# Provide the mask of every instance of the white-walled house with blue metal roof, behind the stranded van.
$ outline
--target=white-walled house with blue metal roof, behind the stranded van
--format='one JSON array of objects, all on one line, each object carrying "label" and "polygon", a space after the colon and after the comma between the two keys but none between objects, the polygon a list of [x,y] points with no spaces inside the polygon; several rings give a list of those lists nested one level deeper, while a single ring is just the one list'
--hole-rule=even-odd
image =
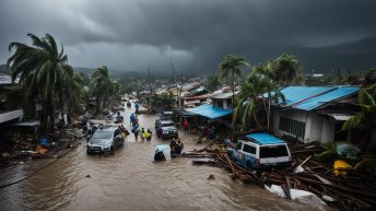
[{"label": "white-walled house with blue metal roof, behind the stranded van", "polygon": [[359,87],[289,86],[281,92],[285,104],[272,108],[275,136],[304,143],[350,141],[355,136],[341,128],[359,110]]}]

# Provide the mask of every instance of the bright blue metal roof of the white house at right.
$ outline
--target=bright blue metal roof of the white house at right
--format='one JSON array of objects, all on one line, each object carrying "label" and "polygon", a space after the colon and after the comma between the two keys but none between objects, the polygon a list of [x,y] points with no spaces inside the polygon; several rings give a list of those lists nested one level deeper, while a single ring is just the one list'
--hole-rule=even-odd
[{"label": "bright blue metal roof of the white house at right", "polygon": [[[281,90],[286,99],[284,106],[312,110],[332,101],[350,96],[359,92],[352,86],[289,86]],[[267,97],[267,94],[263,94]]]}]

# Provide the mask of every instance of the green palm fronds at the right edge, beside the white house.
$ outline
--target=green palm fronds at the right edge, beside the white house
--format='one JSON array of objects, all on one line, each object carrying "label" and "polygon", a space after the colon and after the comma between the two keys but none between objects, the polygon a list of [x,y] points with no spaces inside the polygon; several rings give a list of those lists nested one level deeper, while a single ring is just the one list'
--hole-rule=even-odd
[{"label": "green palm fronds at the right edge, beside the white house", "polygon": [[372,130],[376,128],[376,103],[375,99],[364,90],[359,92],[359,104],[361,112],[346,120],[342,130],[357,128],[365,131],[362,140],[362,148],[365,146],[369,140]]}]

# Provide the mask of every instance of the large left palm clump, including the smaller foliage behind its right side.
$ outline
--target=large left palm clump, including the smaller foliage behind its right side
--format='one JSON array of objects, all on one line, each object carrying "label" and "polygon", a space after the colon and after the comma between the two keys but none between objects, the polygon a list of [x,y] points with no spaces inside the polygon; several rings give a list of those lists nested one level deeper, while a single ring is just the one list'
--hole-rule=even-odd
[{"label": "large left palm clump, including the smaller foliage behind its right side", "polygon": [[42,38],[33,34],[27,36],[33,42],[32,46],[16,42],[9,45],[9,50],[15,51],[9,58],[8,66],[12,80],[20,77],[24,118],[34,118],[35,103],[40,102],[39,133],[47,133],[54,131],[57,108],[63,113],[78,108],[82,84],[68,65],[62,45],[59,51],[51,35],[46,34]]}]

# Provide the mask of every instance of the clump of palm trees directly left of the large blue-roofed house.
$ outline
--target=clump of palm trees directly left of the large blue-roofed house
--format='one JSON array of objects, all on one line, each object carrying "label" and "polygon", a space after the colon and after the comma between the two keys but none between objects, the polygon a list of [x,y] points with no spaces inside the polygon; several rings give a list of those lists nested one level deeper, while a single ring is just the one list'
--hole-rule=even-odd
[{"label": "clump of palm trees directly left of the large blue-roofed house", "polygon": [[[285,99],[280,89],[298,83],[301,69],[302,63],[293,55],[282,55],[270,59],[265,65],[254,66],[252,72],[240,85],[233,121],[239,120],[242,129],[247,129],[250,126],[249,119],[254,119],[256,128],[270,129],[271,103],[284,103]],[[263,95],[265,93],[267,96]],[[261,112],[262,115],[259,115],[260,97],[263,99],[265,113]],[[266,119],[266,126],[261,124],[260,119]]]}]

